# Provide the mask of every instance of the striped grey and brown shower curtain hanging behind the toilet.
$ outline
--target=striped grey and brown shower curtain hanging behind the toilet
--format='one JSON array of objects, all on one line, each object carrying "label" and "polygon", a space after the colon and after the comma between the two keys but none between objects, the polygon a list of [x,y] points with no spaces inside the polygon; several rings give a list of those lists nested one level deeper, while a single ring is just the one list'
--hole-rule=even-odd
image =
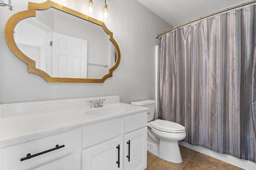
[{"label": "striped grey and brown shower curtain hanging behind the toilet", "polygon": [[158,119],[185,142],[256,162],[256,6],[160,37]]}]

